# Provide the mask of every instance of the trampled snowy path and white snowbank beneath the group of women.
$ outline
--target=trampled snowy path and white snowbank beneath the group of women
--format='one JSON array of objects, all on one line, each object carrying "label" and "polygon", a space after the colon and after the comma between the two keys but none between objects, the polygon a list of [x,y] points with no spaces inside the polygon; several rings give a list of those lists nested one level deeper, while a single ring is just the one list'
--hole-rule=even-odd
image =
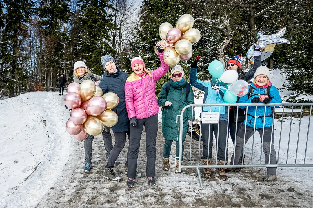
[{"label": "trampled snowy path and white snowbank beneath the group of women", "polygon": [[[6,118],[8,122],[14,122],[19,118],[20,122],[19,126],[14,126],[13,123],[0,121],[0,130],[6,142],[14,144],[10,142],[10,139],[23,133],[17,143],[27,140],[24,142],[30,148],[31,140],[33,140],[37,142],[37,151],[41,149],[40,146],[44,149],[44,157],[40,158],[41,162],[37,167],[36,163],[33,164],[32,167],[36,168],[32,174],[30,172],[33,169],[30,169],[23,176],[24,178],[21,174],[18,175],[21,179],[7,178],[6,181],[2,181],[0,178],[2,185],[9,185],[11,182],[12,188],[23,181],[13,191],[7,190],[10,194],[2,198],[2,200],[5,199],[0,202],[0,207],[313,207],[313,179],[311,177],[313,168],[278,168],[278,180],[274,182],[262,181],[262,176],[266,172],[265,168],[244,168],[237,173],[228,173],[227,181],[220,181],[217,170],[213,169],[212,178],[203,179],[204,186],[200,187],[198,178],[193,176],[194,169],[183,169],[182,174],[174,173],[175,145],[173,144],[171,168],[168,172],[164,172],[162,170],[164,139],[161,123],[156,147],[156,186],[146,186],[146,179],[141,178],[136,179],[135,188],[126,188],[124,163],[128,141],[115,165],[115,172],[122,177],[121,182],[107,181],[102,178],[107,160],[100,136],[94,139],[92,171],[83,172],[84,145],[83,142],[74,140],[65,131],[64,125],[69,118],[69,112],[64,108],[63,99],[64,97],[56,92],[36,92],[0,101],[5,109],[0,114],[1,118]],[[46,126],[39,124],[41,117],[45,120]],[[33,135],[27,133],[28,129]],[[22,130],[23,132],[19,132]],[[8,136],[5,133],[15,134]],[[187,157],[189,159],[188,141],[190,137],[187,136],[183,161],[185,164]],[[0,144],[3,145],[2,140]],[[251,157],[249,149],[248,145],[246,148],[248,161]],[[8,156],[5,151],[1,148],[0,162],[3,164],[0,168],[3,169],[3,166],[7,166],[6,163],[11,162],[17,165],[16,171],[18,168],[21,169],[22,161],[13,163],[15,160],[13,150],[8,151],[13,156]],[[282,155],[286,155],[284,151],[281,150]],[[309,151],[312,152],[311,149]],[[193,161],[198,160],[198,143],[194,141],[192,152],[194,152]],[[229,158],[231,153],[230,145]],[[254,153],[258,155],[257,151]],[[146,169],[145,154],[145,134],[143,133],[137,168],[143,176],[145,176]],[[214,155],[213,151],[213,157]],[[31,154],[30,156],[33,157]],[[31,157],[23,163],[34,162]],[[254,158],[259,159],[259,157]],[[298,158],[301,159],[299,155]],[[312,162],[312,158],[309,162]],[[204,169],[201,170],[202,173],[203,171]],[[0,173],[3,173],[3,170]],[[12,173],[9,175],[13,175]],[[24,181],[29,174],[30,176]],[[18,181],[16,185],[15,181]]]}]

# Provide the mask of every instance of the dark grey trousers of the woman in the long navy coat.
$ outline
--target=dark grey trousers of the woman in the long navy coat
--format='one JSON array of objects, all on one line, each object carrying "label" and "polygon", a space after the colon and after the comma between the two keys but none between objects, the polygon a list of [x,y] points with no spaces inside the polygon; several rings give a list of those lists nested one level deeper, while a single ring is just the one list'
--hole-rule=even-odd
[{"label": "dark grey trousers of the woman in the long navy coat", "polygon": [[[115,164],[117,157],[120,155],[121,151],[123,150],[123,148],[125,146],[126,134],[128,136],[128,141],[129,141],[131,138],[129,130],[127,132],[116,132],[116,133],[114,133],[115,144],[114,144],[114,147],[112,148],[112,150],[110,152],[108,163],[106,164],[105,167],[114,167],[114,164]],[[126,158],[128,158],[128,157],[126,157]],[[128,161],[126,159],[126,163],[125,163],[126,166],[128,165],[127,162]]]}]

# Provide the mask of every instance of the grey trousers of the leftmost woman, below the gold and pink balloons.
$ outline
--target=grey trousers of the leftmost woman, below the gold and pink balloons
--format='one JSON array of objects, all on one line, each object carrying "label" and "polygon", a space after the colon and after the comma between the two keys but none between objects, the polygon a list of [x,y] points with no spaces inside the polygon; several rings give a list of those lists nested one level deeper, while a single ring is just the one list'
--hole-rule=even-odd
[{"label": "grey trousers of the leftmost woman, below the gold and pink balloons", "polygon": [[[106,150],[106,155],[109,156],[112,149],[112,136],[109,128],[104,128],[102,132],[104,147]],[[88,135],[84,141],[85,147],[85,162],[91,162],[91,152],[92,152],[92,141],[94,136]]]}]

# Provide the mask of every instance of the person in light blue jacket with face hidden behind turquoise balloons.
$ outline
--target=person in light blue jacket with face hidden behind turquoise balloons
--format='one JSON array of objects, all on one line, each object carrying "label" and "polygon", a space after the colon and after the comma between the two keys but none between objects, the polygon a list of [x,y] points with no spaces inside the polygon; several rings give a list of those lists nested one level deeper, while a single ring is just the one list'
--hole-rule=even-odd
[{"label": "person in light blue jacket with face hidden behind turquoise balloons", "polygon": [[[194,87],[204,91],[204,98],[203,103],[212,103],[212,104],[222,104],[225,103],[223,96],[226,92],[226,89],[218,90],[215,88],[215,85],[212,82],[203,82],[197,79],[197,63],[198,60],[195,60],[190,67],[190,84]],[[203,113],[206,112],[219,112],[219,130],[218,130],[218,123],[203,123],[202,124],[202,138],[203,138],[203,153],[202,153],[202,161],[204,165],[211,165],[212,164],[212,148],[213,148],[213,132],[215,135],[215,139],[218,138],[218,165],[224,165],[228,162],[227,157],[227,115],[228,115],[228,108],[225,107],[203,107]],[[210,128],[210,135],[209,135],[209,128]],[[226,155],[226,162],[225,160]],[[227,180],[226,168],[218,168],[218,174],[221,180]],[[211,168],[205,168],[204,175],[205,178],[211,177]]]}]

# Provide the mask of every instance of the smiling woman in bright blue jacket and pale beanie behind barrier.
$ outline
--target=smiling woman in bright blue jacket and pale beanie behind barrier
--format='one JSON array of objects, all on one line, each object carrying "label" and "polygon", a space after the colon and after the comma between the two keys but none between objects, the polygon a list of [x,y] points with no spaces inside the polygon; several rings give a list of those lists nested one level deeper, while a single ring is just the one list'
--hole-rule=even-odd
[{"label": "smiling woman in bright blue jacket and pale beanie behind barrier", "polygon": [[[276,87],[272,86],[272,83],[269,81],[269,79],[269,69],[266,66],[260,66],[254,73],[253,83],[251,84],[251,86],[249,86],[254,88],[253,94],[246,94],[239,99],[238,103],[281,103],[282,100],[280,98],[279,92]],[[266,93],[265,90],[268,89],[269,93]],[[270,97],[265,98],[263,101],[260,101],[259,96],[265,94],[270,94]],[[246,108],[246,106],[239,107]],[[274,148],[274,127],[272,128],[272,107],[274,106],[257,106],[257,108],[255,108],[255,106],[248,106],[247,120],[244,121],[244,123],[247,124],[246,132],[245,125],[242,125],[239,129],[239,132],[237,133],[236,151],[234,158],[235,165],[240,164],[240,162],[242,161],[244,141],[245,143],[247,143],[248,139],[254,134],[255,131],[258,131],[260,135],[263,135],[263,152],[265,155],[265,163],[268,164],[269,162],[269,164],[277,164],[276,151]],[[246,136],[245,138],[244,135]],[[269,150],[271,151],[269,152]],[[233,169],[236,168],[227,168],[226,172],[229,172]],[[274,181],[276,179],[276,167],[267,167],[266,169],[267,175],[263,177],[263,181]]]}]

